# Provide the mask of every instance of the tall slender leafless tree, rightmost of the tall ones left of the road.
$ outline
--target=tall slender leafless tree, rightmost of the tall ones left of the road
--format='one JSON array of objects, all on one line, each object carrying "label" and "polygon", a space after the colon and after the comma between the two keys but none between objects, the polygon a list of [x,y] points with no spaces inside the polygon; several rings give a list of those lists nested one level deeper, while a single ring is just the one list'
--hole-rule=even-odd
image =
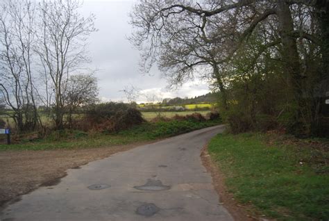
[{"label": "tall slender leafless tree, rightmost of the tall ones left of the road", "polygon": [[[78,13],[78,0],[42,1],[38,13],[39,24],[37,54],[44,67],[47,96],[53,90],[53,120],[56,129],[63,128],[64,93],[69,74],[89,62],[86,41],[94,28],[94,16],[84,18]],[[48,84],[50,83],[50,85]]]}]

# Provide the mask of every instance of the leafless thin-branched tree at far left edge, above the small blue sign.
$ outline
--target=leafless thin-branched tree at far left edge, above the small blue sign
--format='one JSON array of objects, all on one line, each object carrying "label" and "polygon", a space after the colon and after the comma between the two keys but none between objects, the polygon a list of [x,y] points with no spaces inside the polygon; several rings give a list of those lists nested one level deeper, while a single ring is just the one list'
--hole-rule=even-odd
[{"label": "leafless thin-branched tree at far left edge, above the small blue sign", "polygon": [[37,126],[33,44],[35,43],[35,5],[31,1],[6,1],[0,17],[0,92],[19,131]]}]

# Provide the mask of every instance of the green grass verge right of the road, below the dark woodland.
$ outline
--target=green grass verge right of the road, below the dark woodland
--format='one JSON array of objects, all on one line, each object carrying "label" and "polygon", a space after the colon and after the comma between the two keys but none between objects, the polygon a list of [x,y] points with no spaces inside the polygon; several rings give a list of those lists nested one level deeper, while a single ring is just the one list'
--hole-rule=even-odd
[{"label": "green grass verge right of the road, below the dark woodland", "polygon": [[311,149],[267,145],[264,135],[244,133],[219,134],[209,152],[235,199],[258,213],[278,220],[328,220],[328,170],[319,174],[319,165],[303,160]]}]

